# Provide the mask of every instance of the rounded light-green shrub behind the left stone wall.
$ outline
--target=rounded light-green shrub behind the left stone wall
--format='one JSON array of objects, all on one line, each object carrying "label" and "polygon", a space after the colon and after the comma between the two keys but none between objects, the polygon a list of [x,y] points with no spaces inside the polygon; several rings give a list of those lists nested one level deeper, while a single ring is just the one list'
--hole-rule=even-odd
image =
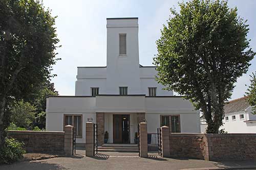
[{"label": "rounded light-green shrub behind the left stone wall", "polygon": [[23,100],[15,102],[11,109],[12,122],[18,127],[30,127],[35,119],[35,110],[34,106]]}]

